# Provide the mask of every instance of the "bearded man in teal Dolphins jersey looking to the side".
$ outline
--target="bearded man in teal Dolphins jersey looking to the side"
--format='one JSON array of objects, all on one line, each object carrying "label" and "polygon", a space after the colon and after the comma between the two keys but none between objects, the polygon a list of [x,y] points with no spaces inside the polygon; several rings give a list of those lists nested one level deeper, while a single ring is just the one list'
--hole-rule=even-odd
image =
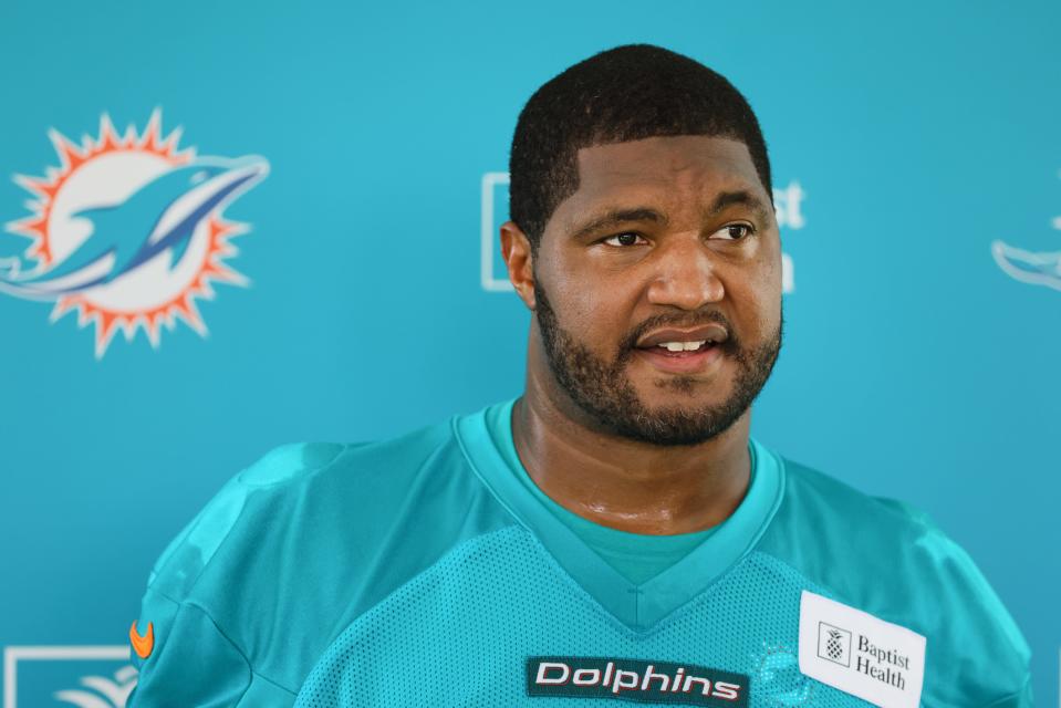
[{"label": "bearded man in teal Dolphins jersey looking to the side", "polygon": [[165,551],[147,706],[1029,706],[1029,650],[925,517],[749,438],[781,345],[755,115],[622,46],[511,153],[524,394],[280,448]]}]

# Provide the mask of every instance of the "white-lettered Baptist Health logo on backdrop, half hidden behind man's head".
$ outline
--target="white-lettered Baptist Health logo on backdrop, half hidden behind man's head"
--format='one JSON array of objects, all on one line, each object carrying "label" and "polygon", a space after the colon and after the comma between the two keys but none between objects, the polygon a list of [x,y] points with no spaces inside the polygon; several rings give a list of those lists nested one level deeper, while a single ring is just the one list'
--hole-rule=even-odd
[{"label": "white-lettered Baptist Health logo on backdrop, half hidden behind man's head", "polygon": [[[508,173],[487,173],[482,176],[480,197],[481,216],[479,231],[479,284],[487,292],[513,290],[505,262],[495,250],[495,241],[501,225],[508,220]],[[803,218],[803,199],[807,192],[798,181],[773,189],[773,205],[778,227],[798,230],[807,226]],[[795,264],[788,253],[781,254],[781,285],[786,293],[795,291]]]}]

